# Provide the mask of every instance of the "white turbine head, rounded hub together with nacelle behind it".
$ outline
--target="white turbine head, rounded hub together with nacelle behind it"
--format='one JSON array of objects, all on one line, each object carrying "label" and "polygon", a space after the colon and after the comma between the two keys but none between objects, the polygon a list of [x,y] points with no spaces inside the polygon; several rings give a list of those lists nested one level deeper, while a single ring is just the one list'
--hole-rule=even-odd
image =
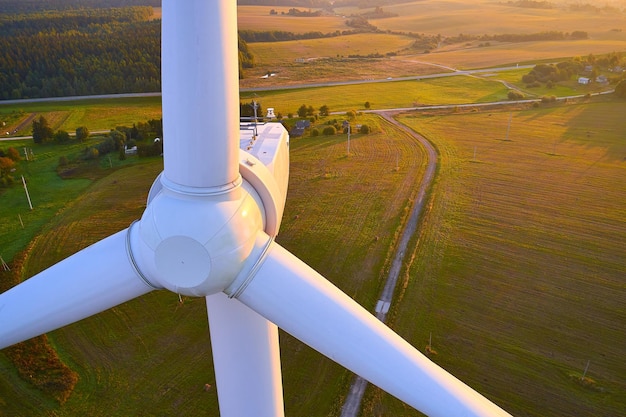
[{"label": "white turbine head, rounded hub together with nacelle behind it", "polygon": [[[231,284],[278,233],[289,136],[279,123],[260,127],[261,136],[248,137],[242,125],[246,150],[239,154],[241,175],[231,184],[205,189],[181,186],[164,174],[156,179],[141,220],[129,229],[129,255],[148,285],[195,297],[229,286],[236,292]],[[252,254],[255,246],[258,254]]]}]

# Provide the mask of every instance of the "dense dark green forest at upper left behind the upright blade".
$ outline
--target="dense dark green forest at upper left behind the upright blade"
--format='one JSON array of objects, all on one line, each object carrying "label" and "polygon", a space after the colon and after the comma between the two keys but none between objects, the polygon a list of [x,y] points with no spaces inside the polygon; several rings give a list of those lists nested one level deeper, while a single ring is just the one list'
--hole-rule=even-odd
[{"label": "dense dark green forest at upper left behind the upright blade", "polygon": [[[153,3],[0,0],[0,100],[160,91]],[[242,39],[239,65],[254,65]]]}]

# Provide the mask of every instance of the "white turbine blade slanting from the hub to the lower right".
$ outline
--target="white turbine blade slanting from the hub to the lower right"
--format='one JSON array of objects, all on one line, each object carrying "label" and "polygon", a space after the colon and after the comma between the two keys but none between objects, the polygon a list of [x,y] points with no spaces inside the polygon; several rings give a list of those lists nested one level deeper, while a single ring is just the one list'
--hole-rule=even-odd
[{"label": "white turbine blade slanting from the hub to the lower right", "polygon": [[237,298],[429,416],[508,416],[277,244]]}]

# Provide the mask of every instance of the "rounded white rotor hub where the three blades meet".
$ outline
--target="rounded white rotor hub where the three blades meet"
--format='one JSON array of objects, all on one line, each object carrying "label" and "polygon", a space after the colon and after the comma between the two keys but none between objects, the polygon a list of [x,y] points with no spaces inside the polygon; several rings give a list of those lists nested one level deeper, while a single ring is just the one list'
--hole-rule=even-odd
[{"label": "rounded white rotor hub where the three blades meet", "polygon": [[228,287],[264,227],[260,197],[247,182],[211,192],[176,189],[163,181],[131,228],[140,274],[152,286],[207,296]]}]

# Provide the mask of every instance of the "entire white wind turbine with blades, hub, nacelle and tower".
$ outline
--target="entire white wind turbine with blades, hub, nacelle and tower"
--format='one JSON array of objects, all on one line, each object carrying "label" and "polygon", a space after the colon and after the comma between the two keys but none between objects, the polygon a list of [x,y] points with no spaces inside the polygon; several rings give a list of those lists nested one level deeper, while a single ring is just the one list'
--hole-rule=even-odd
[{"label": "entire white wind turbine with blades, hub, nacelle and tower", "polygon": [[240,136],[236,2],[162,11],[164,170],[146,210],[0,294],[0,348],[167,289],[206,297],[222,416],[284,415],[277,326],[427,415],[508,416],[274,241],[289,137]]}]

